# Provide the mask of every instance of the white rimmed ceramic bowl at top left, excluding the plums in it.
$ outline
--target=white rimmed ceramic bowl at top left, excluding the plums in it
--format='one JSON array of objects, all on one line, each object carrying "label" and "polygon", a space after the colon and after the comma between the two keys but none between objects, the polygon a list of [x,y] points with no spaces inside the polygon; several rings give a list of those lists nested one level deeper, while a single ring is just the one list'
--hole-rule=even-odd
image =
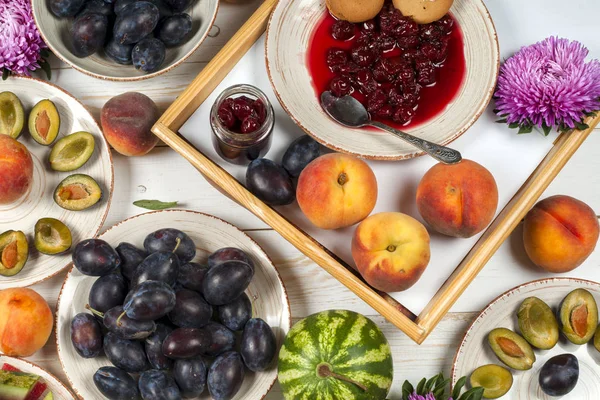
[{"label": "white rimmed ceramic bowl at top left, excluding the plums in it", "polygon": [[168,48],[161,68],[152,73],[136,70],[133,65],[120,65],[99,51],[89,57],[76,57],[71,51],[69,28],[73,18],[58,18],[48,8],[48,0],[31,0],[35,23],[48,47],[65,63],[94,78],[111,81],[139,81],[164,74],[183,63],[200,47],[213,26],[219,0],[194,0],[184,12],[192,17],[190,38],[180,46]]}]

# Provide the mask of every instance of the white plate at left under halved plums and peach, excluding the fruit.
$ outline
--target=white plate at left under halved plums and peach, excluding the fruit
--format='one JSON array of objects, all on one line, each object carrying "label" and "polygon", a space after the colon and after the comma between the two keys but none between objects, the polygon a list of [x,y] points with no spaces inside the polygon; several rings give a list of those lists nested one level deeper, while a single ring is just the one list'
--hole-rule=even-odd
[{"label": "white plate at left under halved plums and peach, excluding the fruit", "polygon": [[[69,93],[48,82],[26,77],[11,77],[2,82],[0,91],[16,94],[25,108],[25,127],[19,142],[27,146],[33,158],[33,184],[29,193],[9,205],[0,205],[0,233],[21,230],[29,242],[29,259],[23,270],[15,276],[0,276],[0,289],[30,286],[62,271],[71,260],[71,253],[48,256],[39,253],[33,244],[33,228],[40,218],[52,217],[65,223],[73,235],[73,243],[98,234],[104,223],[113,191],[113,163],[108,143],[100,126],[88,110]],[[84,166],[76,171],[57,172],[50,169],[48,156],[52,146],[42,146],[27,132],[27,117],[40,100],[50,99],[60,114],[60,138],[78,131],[94,135],[96,148]],[[53,144],[54,144],[53,143]],[[102,199],[84,211],[68,211],[59,207],[53,199],[54,189],[71,174],[86,174],[102,188]]]}]

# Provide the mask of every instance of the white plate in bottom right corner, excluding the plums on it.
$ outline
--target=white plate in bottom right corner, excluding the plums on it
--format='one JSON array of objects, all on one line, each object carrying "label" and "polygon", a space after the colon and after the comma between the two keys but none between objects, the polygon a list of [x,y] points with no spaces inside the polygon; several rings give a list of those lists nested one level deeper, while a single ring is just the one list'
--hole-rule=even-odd
[{"label": "white plate in bottom right corner, excluding the plums on it", "polygon": [[[535,296],[546,302],[554,311],[561,300],[575,289],[586,289],[600,303],[600,284],[573,278],[542,279],[518,286],[502,294],[490,303],[467,330],[456,352],[452,367],[452,384],[462,376],[482,365],[498,364],[498,360],[487,344],[487,335],[494,328],[508,328],[518,332],[517,310],[527,297]],[[600,399],[600,353],[591,345],[576,346],[560,338],[551,350],[536,350],[536,362],[529,371],[514,371],[513,386],[502,400],[551,400],[555,397],[542,392],[538,383],[539,372],[544,363],[559,354],[571,353],[579,360],[579,381],[573,391],[562,400]]]}]

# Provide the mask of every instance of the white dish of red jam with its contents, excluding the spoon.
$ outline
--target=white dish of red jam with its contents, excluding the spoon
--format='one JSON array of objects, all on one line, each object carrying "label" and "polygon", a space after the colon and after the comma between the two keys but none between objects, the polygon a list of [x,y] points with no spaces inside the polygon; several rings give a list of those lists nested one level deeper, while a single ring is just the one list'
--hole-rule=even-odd
[{"label": "white dish of red jam with its contents, excluding the spoon", "polygon": [[489,103],[499,48],[481,0],[289,0],[269,21],[266,61],[276,96],[306,133],[335,151],[400,160],[423,153],[372,128],[342,127],[323,110],[323,93],[353,96],[372,120],[447,144]]}]

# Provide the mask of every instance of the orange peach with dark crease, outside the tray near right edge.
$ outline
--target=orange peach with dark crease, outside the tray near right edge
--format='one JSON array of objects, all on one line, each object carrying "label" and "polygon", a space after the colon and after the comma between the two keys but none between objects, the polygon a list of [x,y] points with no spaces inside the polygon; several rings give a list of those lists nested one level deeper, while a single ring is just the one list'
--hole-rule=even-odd
[{"label": "orange peach with dark crease, outside the tray near right edge", "polygon": [[568,272],[580,266],[596,247],[596,213],[569,196],[538,202],[525,216],[523,242],[527,255],[548,272]]}]

